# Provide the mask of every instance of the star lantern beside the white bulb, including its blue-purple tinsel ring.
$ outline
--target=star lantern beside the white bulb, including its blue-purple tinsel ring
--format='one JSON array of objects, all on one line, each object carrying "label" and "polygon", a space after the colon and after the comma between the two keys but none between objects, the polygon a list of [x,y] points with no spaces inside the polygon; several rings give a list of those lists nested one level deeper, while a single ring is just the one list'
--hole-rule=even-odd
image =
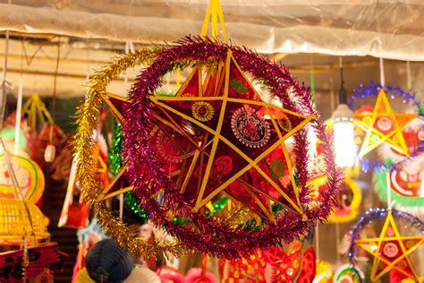
[{"label": "star lantern beside the white bulb, including its blue-purple tinsel ring", "polygon": [[[410,103],[415,107],[416,114],[394,112],[387,96],[390,99],[402,98],[403,103]],[[369,170],[376,172],[393,166],[393,162],[371,161],[367,158],[369,152],[381,146],[388,146],[403,159],[422,152],[422,149],[411,152],[411,147],[407,143],[409,139],[405,139],[406,135],[403,132],[406,124],[409,124],[416,117],[424,115],[423,107],[415,99],[415,96],[399,87],[381,86],[371,82],[369,86],[360,84],[360,89],[353,90],[349,107],[353,109],[355,102],[372,97],[377,97],[374,107],[363,106],[354,111],[356,128],[364,136],[360,142],[359,158],[361,169],[365,172]]]}]

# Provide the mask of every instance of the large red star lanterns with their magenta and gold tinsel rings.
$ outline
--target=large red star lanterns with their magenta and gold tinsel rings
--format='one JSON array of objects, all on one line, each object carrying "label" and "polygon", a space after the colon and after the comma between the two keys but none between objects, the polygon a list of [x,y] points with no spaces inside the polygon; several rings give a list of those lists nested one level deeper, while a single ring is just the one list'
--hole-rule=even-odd
[{"label": "large red star lanterns with their magenta and gold tinsel rings", "polygon": [[[131,88],[131,101],[106,91],[120,73],[138,64],[149,66]],[[191,68],[189,79],[174,96],[159,95],[163,75],[175,68]],[[265,103],[243,73],[261,81],[284,108]],[[78,110],[73,142],[81,158],[83,199],[106,234],[132,253],[182,254],[185,246],[213,256],[246,256],[307,234],[310,223],[326,219],[335,204],[340,172],[325,126],[310,107],[310,93],[266,57],[210,39],[188,38],[176,46],[124,56],[97,73],[90,86],[89,99]],[[91,159],[92,130],[98,122],[93,117],[102,102],[123,123],[125,161],[106,188],[93,177],[96,165]],[[308,141],[301,129],[312,119],[325,145],[328,190],[327,202],[311,207]],[[285,148],[292,135],[295,169]],[[122,176],[128,186],[119,184]],[[179,243],[146,244],[106,208],[107,198],[128,191],[137,197],[140,209],[149,212],[149,219]],[[227,205],[231,213],[207,214],[208,203],[222,195],[233,203]]]}]

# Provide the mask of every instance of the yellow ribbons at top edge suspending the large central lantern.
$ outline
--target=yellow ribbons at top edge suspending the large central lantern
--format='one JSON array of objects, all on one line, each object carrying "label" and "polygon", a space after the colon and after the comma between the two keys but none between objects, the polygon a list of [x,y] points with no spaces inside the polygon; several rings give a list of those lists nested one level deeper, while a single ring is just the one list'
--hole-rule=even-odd
[{"label": "yellow ribbons at top edge suspending the large central lantern", "polygon": [[228,43],[228,37],[226,35],[225,29],[225,21],[224,21],[224,13],[219,3],[219,0],[210,0],[208,11],[206,12],[205,20],[203,21],[203,25],[201,27],[200,36],[202,38],[206,38],[208,35],[209,21],[212,21],[212,38],[219,38],[219,27],[218,24],[221,24],[221,28],[223,30],[223,35],[225,39],[225,43]]}]

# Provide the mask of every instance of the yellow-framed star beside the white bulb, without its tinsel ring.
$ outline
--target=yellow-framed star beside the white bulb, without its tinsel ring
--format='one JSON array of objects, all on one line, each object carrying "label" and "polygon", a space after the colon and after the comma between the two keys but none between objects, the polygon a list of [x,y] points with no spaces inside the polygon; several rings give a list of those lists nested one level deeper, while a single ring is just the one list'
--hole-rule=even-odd
[{"label": "yellow-framed star beside the white bulb, without its tinsel ring", "polygon": [[415,117],[417,115],[395,113],[388,102],[385,90],[379,90],[373,111],[354,115],[355,124],[365,131],[365,138],[360,147],[360,158],[384,142],[394,150],[408,156],[409,151],[402,128]]}]

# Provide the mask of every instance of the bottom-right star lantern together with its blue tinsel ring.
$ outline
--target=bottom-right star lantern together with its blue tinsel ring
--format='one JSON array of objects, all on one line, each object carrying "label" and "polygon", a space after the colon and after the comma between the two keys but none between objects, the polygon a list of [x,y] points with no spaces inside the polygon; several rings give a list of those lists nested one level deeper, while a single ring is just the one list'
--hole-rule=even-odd
[{"label": "bottom-right star lantern together with its blue tinsel ring", "polygon": [[[377,219],[384,219],[379,236],[362,238],[361,231]],[[407,227],[414,228],[418,235],[401,234],[403,230],[398,227],[400,221]],[[409,233],[411,235],[411,231]],[[409,279],[423,279],[423,274],[417,273],[417,267],[420,266],[417,263],[420,264],[420,260],[414,260],[417,250],[424,244],[424,223],[420,219],[398,210],[369,210],[353,227],[350,236],[352,244],[348,255],[355,268],[358,267],[356,256],[359,250],[373,258],[370,274],[366,274],[372,281],[380,279],[391,270],[396,270]]]}]

